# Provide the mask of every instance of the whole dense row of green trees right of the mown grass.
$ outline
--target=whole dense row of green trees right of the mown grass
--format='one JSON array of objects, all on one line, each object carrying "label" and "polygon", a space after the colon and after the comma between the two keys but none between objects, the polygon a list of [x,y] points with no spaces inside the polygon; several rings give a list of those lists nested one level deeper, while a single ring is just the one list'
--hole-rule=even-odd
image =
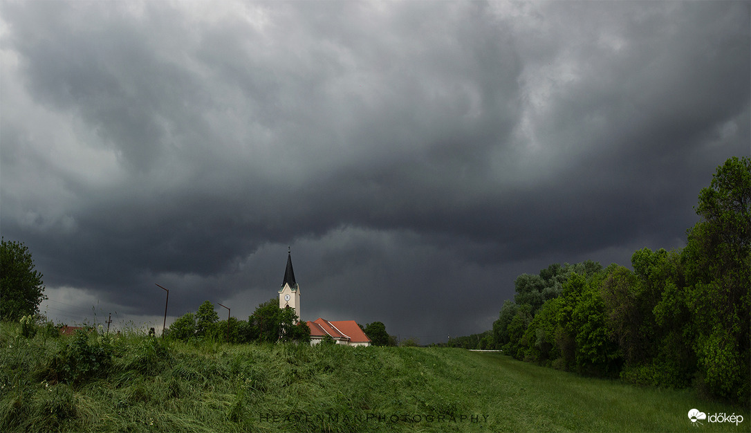
[{"label": "whole dense row of green trees right of the mown grass", "polygon": [[686,247],[632,255],[632,268],[550,265],[515,281],[493,346],[566,371],[695,386],[749,403],[751,160],[731,158],[699,194]]}]

